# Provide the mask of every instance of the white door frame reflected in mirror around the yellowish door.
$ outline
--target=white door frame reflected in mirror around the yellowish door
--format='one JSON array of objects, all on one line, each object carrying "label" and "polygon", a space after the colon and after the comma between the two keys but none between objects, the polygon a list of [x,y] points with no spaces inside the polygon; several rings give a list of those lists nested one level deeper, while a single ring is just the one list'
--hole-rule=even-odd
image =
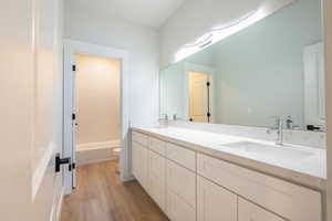
[{"label": "white door frame reflected in mirror around the yellowish door", "polygon": [[209,103],[210,103],[210,113],[211,113],[211,118],[210,118],[210,123],[209,124],[214,124],[216,120],[215,117],[215,84],[214,84],[214,78],[215,78],[215,74],[216,74],[216,70],[210,67],[210,66],[206,66],[206,65],[201,65],[201,64],[195,64],[195,63],[190,63],[190,62],[186,62],[184,64],[184,73],[185,73],[185,80],[184,80],[184,88],[185,88],[185,95],[184,95],[184,104],[185,104],[185,119],[189,120],[189,73],[190,72],[201,72],[204,74],[208,74],[209,75],[209,81],[210,81],[210,93],[209,93]]}]

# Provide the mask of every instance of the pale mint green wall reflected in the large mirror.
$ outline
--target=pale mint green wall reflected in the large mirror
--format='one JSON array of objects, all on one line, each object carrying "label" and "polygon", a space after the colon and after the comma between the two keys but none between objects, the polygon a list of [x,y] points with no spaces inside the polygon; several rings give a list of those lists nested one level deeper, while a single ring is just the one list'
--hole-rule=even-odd
[{"label": "pale mint green wall reflected in the large mirror", "polygon": [[322,40],[319,0],[299,0],[215,45],[217,122],[303,124],[303,48]]}]

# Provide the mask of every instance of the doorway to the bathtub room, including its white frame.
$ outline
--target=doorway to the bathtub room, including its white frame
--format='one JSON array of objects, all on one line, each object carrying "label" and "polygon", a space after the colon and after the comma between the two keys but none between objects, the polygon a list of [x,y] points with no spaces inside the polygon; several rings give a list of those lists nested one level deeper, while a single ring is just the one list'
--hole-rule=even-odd
[{"label": "doorway to the bathtub room, including its white frame", "polygon": [[[116,154],[121,180],[132,178],[127,57],[122,50],[65,41],[63,157],[72,161],[63,172],[65,194],[76,186],[77,164],[112,159]],[[121,151],[114,151],[118,147]]]}]

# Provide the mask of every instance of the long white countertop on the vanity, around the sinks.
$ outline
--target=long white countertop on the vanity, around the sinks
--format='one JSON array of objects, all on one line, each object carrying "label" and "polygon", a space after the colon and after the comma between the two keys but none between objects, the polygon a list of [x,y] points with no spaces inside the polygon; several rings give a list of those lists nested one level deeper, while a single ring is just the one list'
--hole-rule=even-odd
[{"label": "long white countertop on the vanity, around the sinks", "polygon": [[299,160],[271,157],[271,155],[243,151],[242,149],[227,147],[228,144],[250,141],[262,145],[274,145],[270,141],[251,139],[247,137],[222,135],[204,130],[186,129],[180,127],[136,127],[133,130],[141,131],[175,143],[196,151],[227,160],[243,167],[266,172],[295,183],[323,190],[326,180],[326,151],[319,148],[287,145],[287,147],[309,152],[309,157]]}]

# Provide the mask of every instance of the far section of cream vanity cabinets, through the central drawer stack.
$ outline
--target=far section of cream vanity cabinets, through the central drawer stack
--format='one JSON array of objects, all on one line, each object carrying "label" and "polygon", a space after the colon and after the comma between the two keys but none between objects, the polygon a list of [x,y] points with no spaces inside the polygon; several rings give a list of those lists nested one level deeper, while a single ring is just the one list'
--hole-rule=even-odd
[{"label": "far section of cream vanity cabinets, through the central drawer stack", "polygon": [[132,140],[137,181],[172,221],[196,221],[196,152],[136,131]]}]

